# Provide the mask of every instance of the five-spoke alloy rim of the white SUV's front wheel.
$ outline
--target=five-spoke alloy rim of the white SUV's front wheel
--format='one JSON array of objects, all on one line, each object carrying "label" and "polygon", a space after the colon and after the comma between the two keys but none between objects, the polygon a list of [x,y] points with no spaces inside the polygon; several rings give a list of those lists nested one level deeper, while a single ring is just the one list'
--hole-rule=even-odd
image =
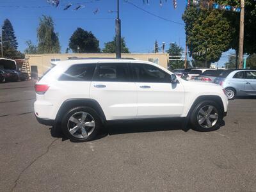
[{"label": "five-spoke alloy rim of the white SUV's front wheel", "polygon": [[218,111],[214,106],[204,106],[197,114],[197,122],[201,127],[211,128],[218,121]]}]

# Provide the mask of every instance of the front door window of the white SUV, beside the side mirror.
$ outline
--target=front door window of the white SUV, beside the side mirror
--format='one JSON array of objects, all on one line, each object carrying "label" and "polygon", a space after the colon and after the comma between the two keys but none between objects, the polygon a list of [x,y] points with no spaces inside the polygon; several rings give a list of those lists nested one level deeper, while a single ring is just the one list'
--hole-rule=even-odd
[{"label": "front door window of the white SUV, beside the side mirror", "polygon": [[136,82],[170,83],[170,75],[158,67],[148,64],[132,64],[132,74]]}]

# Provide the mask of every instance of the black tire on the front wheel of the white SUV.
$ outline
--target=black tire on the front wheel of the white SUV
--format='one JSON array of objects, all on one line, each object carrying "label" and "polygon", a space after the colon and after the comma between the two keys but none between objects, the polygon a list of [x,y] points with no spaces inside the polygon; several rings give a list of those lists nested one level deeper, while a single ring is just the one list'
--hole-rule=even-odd
[{"label": "black tire on the front wheel of the white SUV", "polygon": [[[208,111],[205,109],[209,109],[209,106],[213,106],[214,108],[208,114]],[[200,109],[203,109],[204,112],[206,111],[205,116],[200,113]],[[211,118],[210,116],[214,116],[214,118]],[[203,122],[202,120],[204,120],[204,118],[205,121]],[[212,121],[211,127],[208,127],[207,118],[209,118],[209,120]],[[222,118],[223,111],[221,110],[220,105],[218,105],[216,102],[212,100],[205,100],[196,104],[193,111],[191,111],[189,120],[190,124],[193,126],[193,129],[196,131],[215,131],[220,128],[220,122]],[[199,123],[200,120],[202,124]]]}]

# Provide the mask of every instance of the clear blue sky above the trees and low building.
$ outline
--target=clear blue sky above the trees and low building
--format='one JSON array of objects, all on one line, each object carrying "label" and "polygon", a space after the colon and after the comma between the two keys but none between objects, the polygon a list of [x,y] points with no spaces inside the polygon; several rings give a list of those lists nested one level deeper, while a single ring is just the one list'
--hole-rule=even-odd
[{"label": "clear blue sky above the trees and low building", "polygon": [[[144,4],[143,0],[120,0],[121,34],[131,52],[152,52],[156,40],[159,47],[165,42],[166,49],[173,42],[185,47],[182,20],[185,0],[177,0],[176,10],[173,0],[162,2],[160,6],[159,0],[150,0],[149,4]],[[72,3],[72,7],[64,11],[68,3]],[[79,5],[84,8],[74,11]],[[99,12],[94,14],[97,9]],[[47,0],[0,0],[0,24],[4,19],[12,22],[19,51],[26,49],[27,40],[37,44],[36,28],[42,15],[49,15],[54,20],[61,52],[67,49],[68,40],[77,28],[92,31],[102,49],[104,43],[115,36],[116,13],[109,13],[109,10],[116,11],[116,0],[60,0],[57,8],[48,4]],[[221,58],[220,65],[224,60],[227,60],[227,56]]]}]

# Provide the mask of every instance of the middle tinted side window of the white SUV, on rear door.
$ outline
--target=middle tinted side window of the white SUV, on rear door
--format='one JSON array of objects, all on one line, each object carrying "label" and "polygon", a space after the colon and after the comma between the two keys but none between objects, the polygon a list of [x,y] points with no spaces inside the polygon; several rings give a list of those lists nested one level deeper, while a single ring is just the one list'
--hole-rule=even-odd
[{"label": "middle tinted side window of the white SUV, on rear door", "polygon": [[129,68],[127,63],[99,63],[94,81],[129,81]]}]

